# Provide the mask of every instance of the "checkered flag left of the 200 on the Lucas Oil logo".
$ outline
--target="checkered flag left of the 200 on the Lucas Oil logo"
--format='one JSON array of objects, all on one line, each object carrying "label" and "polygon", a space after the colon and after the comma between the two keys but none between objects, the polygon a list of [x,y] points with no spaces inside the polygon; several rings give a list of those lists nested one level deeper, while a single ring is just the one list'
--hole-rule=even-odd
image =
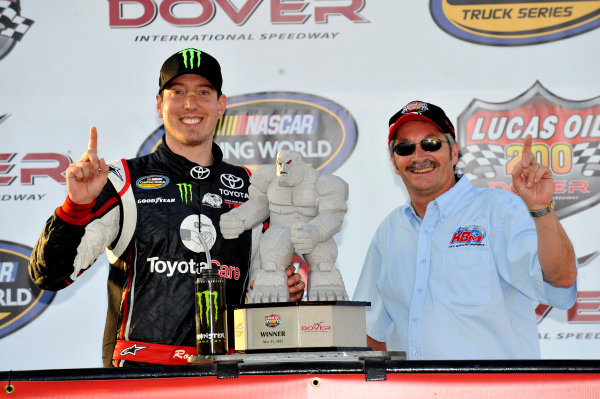
[{"label": "checkered flag left of the 200 on the Lucas Oil logo", "polygon": [[496,177],[496,171],[506,168],[506,162],[503,146],[476,144],[463,149],[463,156],[456,167],[470,180],[491,179]]}]

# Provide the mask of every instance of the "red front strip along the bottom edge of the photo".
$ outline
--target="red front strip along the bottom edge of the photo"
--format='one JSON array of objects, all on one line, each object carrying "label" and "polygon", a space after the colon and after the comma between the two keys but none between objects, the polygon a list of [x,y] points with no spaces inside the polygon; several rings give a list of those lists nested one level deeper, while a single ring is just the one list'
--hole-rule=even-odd
[{"label": "red front strip along the bottom edge of the photo", "polygon": [[[194,366],[190,366],[193,370]],[[597,398],[598,374],[240,375],[68,381],[12,381],[15,397],[32,398]],[[18,394],[18,395],[17,395]]]}]

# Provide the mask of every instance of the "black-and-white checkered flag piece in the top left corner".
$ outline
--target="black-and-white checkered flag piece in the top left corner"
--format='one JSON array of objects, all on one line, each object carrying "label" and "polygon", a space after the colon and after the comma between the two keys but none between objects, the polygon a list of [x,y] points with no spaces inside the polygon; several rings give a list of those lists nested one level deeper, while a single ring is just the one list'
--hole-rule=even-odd
[{"label": "black-and-white checkered flag piece in the top left corner", "polygon": [[0,60],[20,41],[33,20],[21,16],[19,0],[0,0]]}]

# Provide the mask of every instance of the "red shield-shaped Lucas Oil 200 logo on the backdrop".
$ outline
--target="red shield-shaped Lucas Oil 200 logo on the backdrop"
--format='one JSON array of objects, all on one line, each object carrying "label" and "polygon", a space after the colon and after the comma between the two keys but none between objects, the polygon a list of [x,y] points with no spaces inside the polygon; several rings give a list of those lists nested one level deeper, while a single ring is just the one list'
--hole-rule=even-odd
[{"label": "red shield-shaped Lucas Oil 200 logo on the backdrop", "polygon": [[536,82],[503,103],[473,100],[458,116],[459,168],[474,186],[512,189],[511,171],[523,139],[554,174],[559,217],[600,201],[600,96],[573,101]]}]

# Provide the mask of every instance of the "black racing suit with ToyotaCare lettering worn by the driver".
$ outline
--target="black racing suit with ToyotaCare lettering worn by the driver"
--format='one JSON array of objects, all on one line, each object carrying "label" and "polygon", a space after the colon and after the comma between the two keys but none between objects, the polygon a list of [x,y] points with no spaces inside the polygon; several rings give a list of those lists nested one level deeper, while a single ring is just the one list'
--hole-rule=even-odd
[{"label": "black racing suit with ToyotaCare lettering worn by the driver", "polygon": [[[140,349],[145,343],[195,347],[194,283],[206,266],[203,241],[213,268],[226,278],[227,303],[243,303],[252,233],[225,240],[219,217],[247,200],[250,172],[222,162],[216,144],[212,154],[213,165],[202,167],[173,153],[163,137],[151,154],[110,163],[109,183],[93,204],[67,197],[46,222],[29,263],[42,289],[67,287],[108,249],[105,366],[141,358],[150,352],[148,345]],[[120,352],[128,356],[113,361],[115,345],[131,342]]]}]

